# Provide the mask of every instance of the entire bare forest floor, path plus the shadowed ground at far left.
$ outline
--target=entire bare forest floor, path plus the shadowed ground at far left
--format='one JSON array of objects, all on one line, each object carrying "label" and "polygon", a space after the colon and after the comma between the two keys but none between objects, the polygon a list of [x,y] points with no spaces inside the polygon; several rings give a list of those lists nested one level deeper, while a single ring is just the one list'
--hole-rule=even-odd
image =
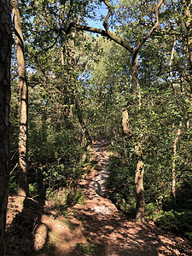
[{"label": "entire bare forest floor, path plus the shadowed ground at far left", "polygon": [[192,255],[185,238],[167,233],[154,223],[137,224],[118,211],[106,197],[108,145],[95,142],[101,171],[93,170],[81,181],[84,204],[61,215],[49,202],[30,201],[23,209],[9,197],[8,256],[75,255]]}]

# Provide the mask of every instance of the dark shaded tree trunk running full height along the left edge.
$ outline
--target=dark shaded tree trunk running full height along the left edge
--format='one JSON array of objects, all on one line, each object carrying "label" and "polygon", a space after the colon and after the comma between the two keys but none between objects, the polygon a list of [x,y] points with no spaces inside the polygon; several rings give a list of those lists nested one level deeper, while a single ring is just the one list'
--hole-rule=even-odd
[{"label": "dark shaded tree trunk running full height along the left edge", "polygon": [[10,2],[0,1],[0,256],[5,254],[9,187],[9,100],[11,57]]}]

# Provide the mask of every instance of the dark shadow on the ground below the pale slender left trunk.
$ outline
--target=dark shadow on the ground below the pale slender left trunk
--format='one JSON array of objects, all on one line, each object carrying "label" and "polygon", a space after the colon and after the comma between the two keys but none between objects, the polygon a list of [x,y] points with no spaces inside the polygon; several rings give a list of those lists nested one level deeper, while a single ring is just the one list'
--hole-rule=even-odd
[{"label": "dark shadow on the ground below the pale slender left trunk", "polygon": [[[17,211],[20,204],[12,198],[9,207],[12,207],[11,211]],[[36,242],[36,232],[42,225],[41,218],[44,214],[44,200],[33,201],[32,199],[25,199],[24,207],[22,211],[15,215],[11,224],[6,232],[6,244],[7,252],[6,256],[22,256],[22,255],[39,255],[38,251],[44,250],[49,246],[49,232],[50,229],[46,226],[44,230],[44,240],[41,247],[38,247]],[[10,218],[10,216],[8,216]],[[49,248],[53,252],[54,248]]]}]

